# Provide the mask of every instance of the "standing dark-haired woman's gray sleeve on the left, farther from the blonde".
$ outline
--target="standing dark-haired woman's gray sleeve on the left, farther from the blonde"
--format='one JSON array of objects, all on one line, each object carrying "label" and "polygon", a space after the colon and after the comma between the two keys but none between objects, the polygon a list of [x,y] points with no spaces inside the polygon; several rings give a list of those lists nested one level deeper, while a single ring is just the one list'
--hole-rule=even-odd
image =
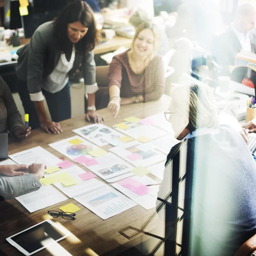
[{"label": "standing dark-haired woman's gray sleeve on the left, farther from the blonde", "polygon": [[[30,95],[41,93],[45,53],[47,50],[46,40],[43,32],[41,32],[41,30],[36,30],[29,43],[27,80]],[[43,97],[43,94],[41,96]],[[39,99],[39,101],[43,99],[44,98]]]}]

